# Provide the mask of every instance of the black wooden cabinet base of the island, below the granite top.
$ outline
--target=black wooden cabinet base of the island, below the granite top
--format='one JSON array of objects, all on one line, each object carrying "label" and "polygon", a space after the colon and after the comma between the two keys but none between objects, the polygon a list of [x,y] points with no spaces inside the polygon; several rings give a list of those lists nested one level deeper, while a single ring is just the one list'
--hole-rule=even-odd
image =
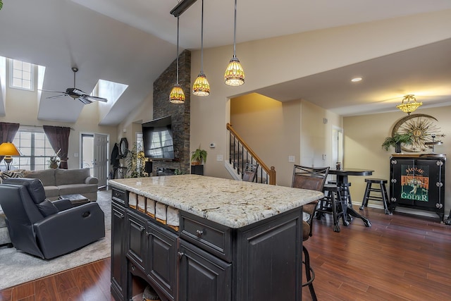
[{"label": "black wooden cabinet base of the island, below the granite top", "polygon": [[129,193],[113,190],[115,300],[132,300],[147,285],[165,301],[302,300],[301,208],[242,228],[180,211],[175,231],[125,207]]}]

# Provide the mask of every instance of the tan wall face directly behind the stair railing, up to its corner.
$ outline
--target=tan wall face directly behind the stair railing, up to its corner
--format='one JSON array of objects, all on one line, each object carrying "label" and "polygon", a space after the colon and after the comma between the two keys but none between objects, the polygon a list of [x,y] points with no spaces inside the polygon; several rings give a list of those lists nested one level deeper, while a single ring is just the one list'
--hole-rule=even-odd
[{"label": "tan wall face directly behind the stair railing, up to its corner", "polygon": [[291,185],[288,156],[299,159],[300,112],[299,101],[283,103],[257,93],[230,102],[230,123],[269,168],[276,167],[278,185]]}]

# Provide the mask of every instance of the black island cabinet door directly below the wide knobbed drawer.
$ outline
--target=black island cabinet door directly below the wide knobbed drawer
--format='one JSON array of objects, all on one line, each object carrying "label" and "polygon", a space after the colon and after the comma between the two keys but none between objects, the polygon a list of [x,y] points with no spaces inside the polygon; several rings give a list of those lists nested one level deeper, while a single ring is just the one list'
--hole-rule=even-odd
[{"label": "black island cabinet door directly below the wide knobbed drawer", "polygon": [[231,300],[231,265],[180,240],[180,301]]}]

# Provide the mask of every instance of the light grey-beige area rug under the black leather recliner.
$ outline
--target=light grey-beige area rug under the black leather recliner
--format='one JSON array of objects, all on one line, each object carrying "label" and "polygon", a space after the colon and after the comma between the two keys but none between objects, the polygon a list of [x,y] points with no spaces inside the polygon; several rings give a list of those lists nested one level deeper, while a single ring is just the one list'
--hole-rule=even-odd
[{"label": "light grey-beige area rug under the black leather recliner", "polygon": [[0,248],[0,290],[110,257],[111,190],[99,191],[97,203],[105,214],[105,238],[75,252],[44,260],[14,247]]}]

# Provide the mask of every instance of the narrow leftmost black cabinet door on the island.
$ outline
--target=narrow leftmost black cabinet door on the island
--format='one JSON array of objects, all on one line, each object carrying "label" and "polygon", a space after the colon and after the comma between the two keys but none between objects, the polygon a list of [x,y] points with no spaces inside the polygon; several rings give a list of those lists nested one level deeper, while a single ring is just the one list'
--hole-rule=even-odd
[{"label": "narrow leftmost black cabinet door on the island", "polygon": [[125,208],[111,202],[111,293],[124,300],[127,263],[125,260]]}]

